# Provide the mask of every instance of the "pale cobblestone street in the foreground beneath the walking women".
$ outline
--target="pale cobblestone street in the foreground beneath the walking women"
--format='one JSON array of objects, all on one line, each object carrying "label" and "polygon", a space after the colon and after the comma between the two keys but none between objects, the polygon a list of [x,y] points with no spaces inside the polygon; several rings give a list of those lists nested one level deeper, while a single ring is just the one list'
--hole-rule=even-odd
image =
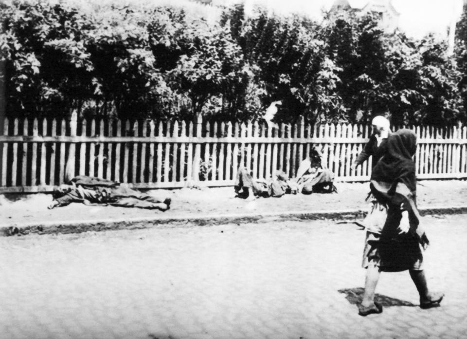
[{"label": "pale cobblestone street in the foreground beneath the walking women", "polygon": [[466,338],[467,216],[426,217],[422,310],[383,273],[360,317],[364,232],[332,221],[0,238],[0,338]]}]

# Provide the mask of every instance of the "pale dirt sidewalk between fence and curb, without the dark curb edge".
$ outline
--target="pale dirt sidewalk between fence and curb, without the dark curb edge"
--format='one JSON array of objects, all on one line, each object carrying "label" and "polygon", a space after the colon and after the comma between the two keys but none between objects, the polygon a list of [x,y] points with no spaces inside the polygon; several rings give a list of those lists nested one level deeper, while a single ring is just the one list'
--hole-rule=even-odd
[{"label": "pale dirt sidewalk between fence and curb, without the dark curb edge", "polygon": [[[368,183],[337,183],[336,186],[339,190],[337,194],[285,195],[281,198],[258,198],[252,202],[235,198],[232,187],[158,190],[158,194],[163,192],[172,199],[171,208],[165,212],[140,208],[85,206],[75,203],[49,210],[47,206],[52,202],[50,194],[8,194],[0,195],[0,225],[9,227],[54,222],[65,224],[112,219],[280,214],[292,211],[313,213],[368,208],[365,202],[369,191]],[[420,181],[417,194],[420,208],[467,207],[467,181],[464,180]]]}]

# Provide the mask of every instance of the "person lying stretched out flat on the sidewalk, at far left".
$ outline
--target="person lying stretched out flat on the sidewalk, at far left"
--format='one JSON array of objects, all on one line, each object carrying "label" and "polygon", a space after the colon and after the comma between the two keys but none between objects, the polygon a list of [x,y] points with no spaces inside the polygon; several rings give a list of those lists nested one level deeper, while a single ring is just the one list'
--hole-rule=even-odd
[{"label": "person lying stretched out flat on the sidewalk, at far left", "polygon": [[53,193],[54,200],[48,206],[67,206],[73,202],[85,205],[110,205],[116,207],[139,207],[147,209],[170,208],[171,199],[149,195],[120,185],[107,179],[80,175],[74,177],[69,185],[62,185]]}]

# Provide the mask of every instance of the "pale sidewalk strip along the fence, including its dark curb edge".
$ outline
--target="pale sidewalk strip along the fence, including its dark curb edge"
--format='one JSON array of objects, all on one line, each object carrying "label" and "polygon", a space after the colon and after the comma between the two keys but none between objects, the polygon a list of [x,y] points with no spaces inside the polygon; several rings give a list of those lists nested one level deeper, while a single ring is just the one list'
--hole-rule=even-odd
[{"label": "pale sidewalk strip along the fence, including its dark curb edge", "polygon": [[[272,216],[282,219],[342,217],[354,218],[366,212],[368,183],[337,183],[338,194],[297,194],[281,198],[260,198],[254,202],[234,198],[232,187],[204,189],[156,190],[153,193],[172,199],[170,210],[161,212],[141,208],[84,206],[71,204],[52,210],[47,206],[51,195],[0,195],[0,234],[22,229],[29,232],[79,232],[83,230],[148,227],[161,223],[225,224],[229,221],[269,221]],[[424,180],[417,187],[418,206],[422,212],[442,213],[467,211],[467,181]],[[341,213],[336,213],[340,211]],[[320,214],[321,213],[321,214]]]}]

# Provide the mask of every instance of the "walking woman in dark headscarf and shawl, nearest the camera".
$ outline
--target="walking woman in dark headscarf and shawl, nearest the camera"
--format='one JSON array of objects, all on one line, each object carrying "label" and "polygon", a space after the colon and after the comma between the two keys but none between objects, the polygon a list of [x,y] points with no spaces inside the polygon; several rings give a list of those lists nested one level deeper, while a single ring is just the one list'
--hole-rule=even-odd
[{"label": "walking woman in dark headscarf and shawl, nearest the camera", "polygon": [[365,218],[366,240],[363,264],[366,268],[365,291],[359,315],[381,313],[374,301],[381,271],[409,270],[420,295],[420,307],[439,306],[442,293],[431,293],[423,271],[423,250],[429,241],[416,207],[415,163],[416,135],[406,129],[388,136],[384,155],[374,166],[370,188],[376,198],[372,211]]}]

